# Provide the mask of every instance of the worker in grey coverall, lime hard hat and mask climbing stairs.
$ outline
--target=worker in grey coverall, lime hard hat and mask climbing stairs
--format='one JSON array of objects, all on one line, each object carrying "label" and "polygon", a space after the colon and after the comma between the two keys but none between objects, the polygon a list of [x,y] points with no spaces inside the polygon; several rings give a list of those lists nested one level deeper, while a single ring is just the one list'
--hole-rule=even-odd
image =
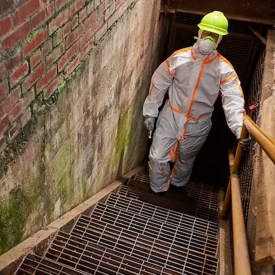
[{"label": "worker in grey coverall, lime hard hat and mask climbing stairs", "polygon": [[[228,34],[228,20],[222,12],[214,11],[198,26],[195,45],[175,52],[156,69],[144,102],[148,130],[153,129],[158,116],[148,166],[151,191],[159,195],[168,188],[179,191],[188,182],[195,157],[210,131],[219,92],[227,124],[238,140],[241,136],[245,113],[241,84],[231,63],[216,50]],[[166,91],[168,100],[159,113]],[[241,141],[244,148],[249,144],[250,137]],[[172,171],[169,162],[175,162]]]}]

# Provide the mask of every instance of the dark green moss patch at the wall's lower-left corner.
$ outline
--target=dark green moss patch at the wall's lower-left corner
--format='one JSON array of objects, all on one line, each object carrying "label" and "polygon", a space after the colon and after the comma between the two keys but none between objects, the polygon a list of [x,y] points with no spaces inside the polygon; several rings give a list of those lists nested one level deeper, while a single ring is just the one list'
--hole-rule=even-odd
[{"label": "dark green moss patch at the wall's lower-left corner", "polygon": [[0,205],[0,254],[22,241],[31,211],[32,198],[21,187],[13,188],[8,201]]}]

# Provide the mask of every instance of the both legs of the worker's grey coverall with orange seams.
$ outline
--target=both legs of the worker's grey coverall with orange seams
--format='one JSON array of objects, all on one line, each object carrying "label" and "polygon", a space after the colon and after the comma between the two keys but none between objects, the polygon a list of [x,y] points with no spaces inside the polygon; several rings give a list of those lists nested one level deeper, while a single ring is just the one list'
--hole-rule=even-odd
[{"label": "both legs of the worker's grey coverall with orange seams", "polygon": [[[211,129],[211,121],[187,123],[184,139],[179,137],[176,128],[176,124],[165,117],[160,116],[157,120],[148,162],[154,192],[165,192],[170,184],[184,186],[188,182],[195,157]],[[175,166],[170,175],[169,162],[174,160]]]}]

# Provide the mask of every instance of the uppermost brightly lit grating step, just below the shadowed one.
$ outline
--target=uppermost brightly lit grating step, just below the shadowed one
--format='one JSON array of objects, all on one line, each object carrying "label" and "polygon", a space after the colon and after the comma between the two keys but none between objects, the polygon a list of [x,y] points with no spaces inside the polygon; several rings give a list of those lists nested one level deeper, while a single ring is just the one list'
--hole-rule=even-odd
[{"label": "uppermost brightly lit grating step, just below the shadowed one", "polygon": [[106,204],[133,214],[169,223],[176,227],[190,228],[190,230],[206,234],[206,236],[217,237],[218,224],[206,219],[199,219],[117,194],[111,194]]}]

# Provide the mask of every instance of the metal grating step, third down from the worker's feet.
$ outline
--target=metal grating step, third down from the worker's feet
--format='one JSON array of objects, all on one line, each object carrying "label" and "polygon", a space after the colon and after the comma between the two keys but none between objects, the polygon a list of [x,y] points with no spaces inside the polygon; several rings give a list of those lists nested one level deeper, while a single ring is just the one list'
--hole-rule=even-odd
[{"label": "metal grating step, third down from the worker's feet", "polygon": [[163,223],[162,221],[119,210],[103,203],[98,203],[91,217],[119,226],[120,228],[125,228],[126,230],[132,230],[145,236],[151,236],[158,240],[179,245],[182,248],[195,250],[211,256],[216,256],[217,254],[217,238],[193,231],[188,226],[184,228],[177,227],[169,223]]}]

